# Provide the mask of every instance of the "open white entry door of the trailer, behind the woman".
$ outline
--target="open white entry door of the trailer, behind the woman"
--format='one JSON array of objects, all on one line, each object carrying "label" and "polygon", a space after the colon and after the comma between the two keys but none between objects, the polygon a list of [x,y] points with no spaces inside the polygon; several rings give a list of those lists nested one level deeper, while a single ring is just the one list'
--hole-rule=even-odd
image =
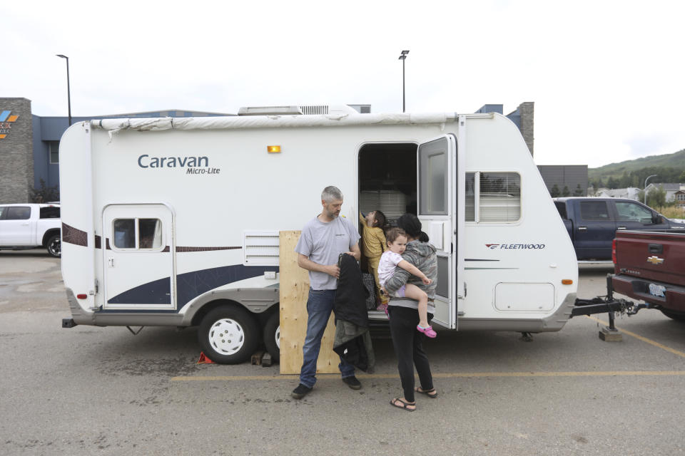
[{"label": "open white entry door of the trailer, behind the woman", "polygon": [[437,249],[434,321],[457,327],[457,140],[442,135],[418,147],[418,216]]}]

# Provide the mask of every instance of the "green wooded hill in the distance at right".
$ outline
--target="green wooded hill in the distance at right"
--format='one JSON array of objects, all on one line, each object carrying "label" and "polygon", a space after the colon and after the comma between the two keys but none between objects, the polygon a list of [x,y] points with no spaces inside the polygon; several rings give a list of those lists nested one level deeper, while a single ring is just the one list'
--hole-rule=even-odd
[{"label": "green wooded hill in the distance at right", "polygon": [[[685,182],[685,149],[587,170],[591,185],[601,180],[603,186],[609,188],[642,187],[645,178],[653,174],[657,176],[652,177],[650,182]],[[608,185],[610,181],[613,185]]]}]

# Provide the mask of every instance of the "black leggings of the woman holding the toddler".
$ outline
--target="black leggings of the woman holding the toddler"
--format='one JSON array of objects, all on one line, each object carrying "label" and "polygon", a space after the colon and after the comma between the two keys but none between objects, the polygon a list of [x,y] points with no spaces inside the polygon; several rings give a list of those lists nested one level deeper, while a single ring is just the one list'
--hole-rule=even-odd
[{"label": "black leggings of the woman holding the toddler", "polygon": [[[426,353],[423,351],[423,339],[426,337],[416,330],[419,324],[419,311],[408,307],[389,306],[390,336],[392,346],[397,356],[397,370],[400,371],[402,389],[405,390],[405,399],[414,402],[414,366],[419,374],[421,388],[430,390],[433,388],[433,377],[430,373],[430,364]],[[428,321],[432,314],[428,314]]]}]

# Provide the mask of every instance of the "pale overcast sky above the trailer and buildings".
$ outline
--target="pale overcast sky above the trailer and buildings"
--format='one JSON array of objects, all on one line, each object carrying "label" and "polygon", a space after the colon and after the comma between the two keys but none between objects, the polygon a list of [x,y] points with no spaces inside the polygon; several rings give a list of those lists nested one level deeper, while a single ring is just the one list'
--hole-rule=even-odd
[{"label": "pale overcast sky above the trailer and buildings", "polygon": [[365,103],[535,103],[539,165],[685,148],[685,2],[8,1],[0,97],[73,116]]}]

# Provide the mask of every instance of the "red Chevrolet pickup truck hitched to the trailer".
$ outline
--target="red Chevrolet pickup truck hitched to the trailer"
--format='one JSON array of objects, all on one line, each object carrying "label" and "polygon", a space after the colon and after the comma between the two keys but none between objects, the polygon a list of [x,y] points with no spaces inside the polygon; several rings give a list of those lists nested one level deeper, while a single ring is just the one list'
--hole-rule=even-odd
[{"label": "red Chevrolet pickup truck hitched to the trailer", "polygon": [[614,291],[685,321],[685,232],[617,232],[612,257]]}]

